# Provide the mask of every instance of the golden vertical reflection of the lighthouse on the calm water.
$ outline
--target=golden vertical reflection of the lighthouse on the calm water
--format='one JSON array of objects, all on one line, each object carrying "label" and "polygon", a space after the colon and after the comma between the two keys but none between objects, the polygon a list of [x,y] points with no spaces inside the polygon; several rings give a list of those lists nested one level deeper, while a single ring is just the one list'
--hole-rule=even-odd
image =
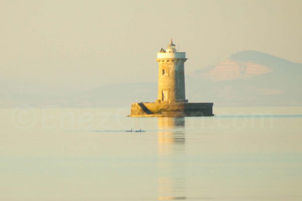
[{"label": "golden vertical reflection of the lighthouse on the calm water", "polygon": [[158,199],[186,199],[185,118],[158,118],[158,128]]}]

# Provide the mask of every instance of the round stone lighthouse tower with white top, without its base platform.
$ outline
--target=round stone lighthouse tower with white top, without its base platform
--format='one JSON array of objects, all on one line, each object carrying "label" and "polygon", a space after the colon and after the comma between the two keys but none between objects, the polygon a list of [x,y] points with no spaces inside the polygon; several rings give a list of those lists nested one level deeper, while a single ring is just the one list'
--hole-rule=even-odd
[{"label": "round stone lighthouse tower with white top, without its base platform", "polygon": [[185,52],[177,52],[171,39],[167,50],[157,53],[159,63],[158,99],[156,103],[187,103],[185,91]]}]

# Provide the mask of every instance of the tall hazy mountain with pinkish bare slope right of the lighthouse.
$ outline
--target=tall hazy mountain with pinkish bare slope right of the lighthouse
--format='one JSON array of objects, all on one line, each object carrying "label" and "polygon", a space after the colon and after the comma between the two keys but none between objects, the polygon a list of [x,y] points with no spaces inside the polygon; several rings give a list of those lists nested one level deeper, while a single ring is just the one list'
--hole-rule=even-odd
[{"label": "tall hazy mountain with pinkish bare slope right of the lighthouse", "polygon": [[191,101],[226,106],[302,105],[302,64],[257,51],[231,55],[218,65],[189,73]]}]

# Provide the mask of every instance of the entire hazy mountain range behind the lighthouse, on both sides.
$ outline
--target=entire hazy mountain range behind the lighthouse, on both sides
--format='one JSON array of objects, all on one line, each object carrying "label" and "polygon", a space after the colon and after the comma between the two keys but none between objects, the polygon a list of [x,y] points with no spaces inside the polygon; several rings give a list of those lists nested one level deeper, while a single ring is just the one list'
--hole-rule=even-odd
[{"label": "entire hazy mountain range behind the lighthouse, on both sides", "polygon": [[[301,106],[302,64],[257,51],[238,52],[186,73],[186,97],[214,106]],[[156,82],[120,83],[68,95],[5,94],[0,106],[129,107],[156,98]]]}]

